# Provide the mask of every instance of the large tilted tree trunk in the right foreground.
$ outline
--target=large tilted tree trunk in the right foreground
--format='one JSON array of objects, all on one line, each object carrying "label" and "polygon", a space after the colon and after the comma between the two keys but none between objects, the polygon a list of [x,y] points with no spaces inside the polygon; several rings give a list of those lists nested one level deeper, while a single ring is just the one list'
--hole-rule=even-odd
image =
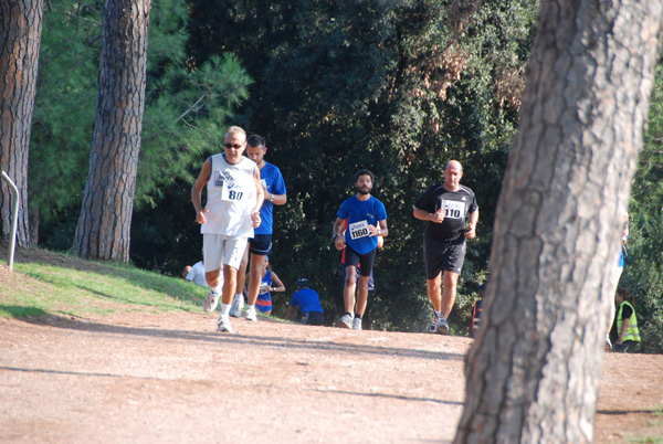
[{"label": "large tilted tree trunk in the right foreground", "polygon": [[587,443],[663,0],[544,0],[455,443]]}]

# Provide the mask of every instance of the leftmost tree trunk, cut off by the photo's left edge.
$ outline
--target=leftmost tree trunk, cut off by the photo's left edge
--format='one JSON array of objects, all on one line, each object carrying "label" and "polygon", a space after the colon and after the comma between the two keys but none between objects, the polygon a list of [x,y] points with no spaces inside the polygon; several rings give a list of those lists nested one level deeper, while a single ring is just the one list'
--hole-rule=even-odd
[{"label": "leftmost tree trunk, cut off by the photo's left edge", "polygon": [[[0,0],[0,169],[19,189],[18,246],[32,245],[28,155],[43,9],[43,0]],[[0,241],[8,243],[14,198],[2,180],[0,190]]]}]

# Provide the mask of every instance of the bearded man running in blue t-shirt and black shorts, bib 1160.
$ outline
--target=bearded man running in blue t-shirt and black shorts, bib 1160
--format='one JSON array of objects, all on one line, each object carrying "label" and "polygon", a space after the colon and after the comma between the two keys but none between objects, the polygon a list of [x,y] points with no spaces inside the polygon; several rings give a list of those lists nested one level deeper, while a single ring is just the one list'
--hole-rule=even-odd
[{"label": "bearded man running in blue t-shirt and black shorts, bib 1160", "polygon": [[[336,323],[341,328],[361,329],[361,317],[368,300],[368,279],[376,261],[378,236],[386,237],[389,234],[385,205],[370,195],[373,179],[369,170],[360,170],[355,175],[357,194],[343,202],[334,223],[335,246],[339,251],[346,249],[346,279],[343,292],[346,313]],[[359,265],[359,292],[355,299]]]}]

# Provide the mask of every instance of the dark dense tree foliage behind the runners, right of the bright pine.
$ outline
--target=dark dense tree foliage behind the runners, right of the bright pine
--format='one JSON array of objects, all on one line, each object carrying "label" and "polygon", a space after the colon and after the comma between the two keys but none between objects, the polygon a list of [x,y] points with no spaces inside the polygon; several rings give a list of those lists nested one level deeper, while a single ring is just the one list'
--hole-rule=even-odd
[{"label": "dark dense tree foliage behind the runners, right of the bright pine", "polygon": [[411,208],[454,158],[482,209],[452,318],[459,330],[485,278],[538,4],[465,3],[191,2],[192,63],[233,51],[255,80],[235,121],[266,137],[267,160],[286,179],[288,204],[276,210],[272,256],[286,286],[306,275],[335,306],[341,287],[332,224],[354,193],[354,173],[376,173],[373,194],[387,207],[390,235],[369,298],[373,328],[425,325],[425,224]]}]

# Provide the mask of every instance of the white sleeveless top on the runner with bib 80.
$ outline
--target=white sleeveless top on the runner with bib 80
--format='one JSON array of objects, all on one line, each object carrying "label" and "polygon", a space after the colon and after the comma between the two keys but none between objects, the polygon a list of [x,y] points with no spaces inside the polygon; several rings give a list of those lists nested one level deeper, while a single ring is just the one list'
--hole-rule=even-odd
[{"label": "white sleeveless top on the runner with bib 80", "polygon": [[257,199],[255,168],[252,160],[242,157],[235,165],[225,161],[224,154],[210,157],[211,173],[207,183],[206,222],[201,233],[223,234],[231,237],[253,237],[251,210]]}]

